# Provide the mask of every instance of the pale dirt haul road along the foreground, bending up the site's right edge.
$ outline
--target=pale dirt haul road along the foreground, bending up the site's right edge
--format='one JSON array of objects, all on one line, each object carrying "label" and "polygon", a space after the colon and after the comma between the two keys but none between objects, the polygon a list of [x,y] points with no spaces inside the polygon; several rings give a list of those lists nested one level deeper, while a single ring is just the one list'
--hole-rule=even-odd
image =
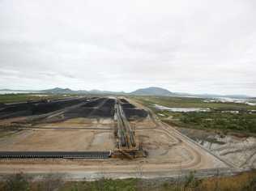
[{"label": "pale dirt haul road along the foreground, bending up the site's right edge", "polygon": [[[129,100],[138,108],[149,108]],[[31,173],[41,176],[45,173],[63,173],[68,180],[95,180],[101,177],[127,178],[143,177],[156,178],[166,176],[181,176],[195,171],[196,176],[230,175],[241,172],[218,156],[211,154],[203,146],[179,133],[172,126],[157,120],[151,112],[150,120],[155,127],[154,134],[169,138],[169,158],[161,160],[152,157],[143,159],[0,159],[0,175],[14,172]],[[147,126],[145,126],[147,128]],[[145,134],[148,129],[135,129],[135,134]],[[160,137],[159,139],[161,139]],[[177,158],[177,155],[184,156]],[[160,154],[162,155],[162,154]]]}]

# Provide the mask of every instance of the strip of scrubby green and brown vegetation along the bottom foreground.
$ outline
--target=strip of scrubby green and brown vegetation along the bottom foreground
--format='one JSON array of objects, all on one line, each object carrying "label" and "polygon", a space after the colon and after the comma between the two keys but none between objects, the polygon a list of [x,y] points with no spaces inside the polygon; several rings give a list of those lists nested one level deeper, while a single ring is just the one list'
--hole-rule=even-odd
[{"label": "strip of scrubby green and brown vegetation along the bottom foreground", "polygon": [[256,189],[256,172],[244,172],[237,176],[198,179],[194,172],[175,180],[100,179],[96,181],[65,182],[62,176],[50,174],[43,181],[32,181],[23,173],[8,176],[0,182],[4,191],[253,191]]}]

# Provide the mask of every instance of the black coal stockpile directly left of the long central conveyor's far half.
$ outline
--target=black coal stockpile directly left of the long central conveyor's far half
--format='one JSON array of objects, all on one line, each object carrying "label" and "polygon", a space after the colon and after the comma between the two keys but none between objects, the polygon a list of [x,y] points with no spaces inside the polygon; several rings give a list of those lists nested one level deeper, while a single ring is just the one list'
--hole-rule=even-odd
[{"label": "black coal stockpile directly left of the long central conveyor's far half", "polygon": [[74,117],[113,117],[116,100],[99,98],[65,112],[65,118]]}]

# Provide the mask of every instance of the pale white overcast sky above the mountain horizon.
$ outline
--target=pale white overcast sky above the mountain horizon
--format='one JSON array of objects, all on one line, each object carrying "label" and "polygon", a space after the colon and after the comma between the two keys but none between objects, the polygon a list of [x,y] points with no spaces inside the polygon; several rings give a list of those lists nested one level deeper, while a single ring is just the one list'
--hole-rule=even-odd
[{"label": "pale white overcast sky above the mountain horizon", "polygon": [[0,0],[0,88],[256,96],[255,0]]}]

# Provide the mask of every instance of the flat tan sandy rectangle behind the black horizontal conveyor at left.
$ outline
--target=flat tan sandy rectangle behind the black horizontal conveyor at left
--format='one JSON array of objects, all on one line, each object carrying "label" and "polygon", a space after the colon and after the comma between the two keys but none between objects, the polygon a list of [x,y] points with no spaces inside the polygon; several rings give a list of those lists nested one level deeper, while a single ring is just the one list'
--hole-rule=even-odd
[{"label": "flat tan sandy rectangle behind the black horizontal conveyor at left", "polygon": [[112,132],[84,129],[24,129],[0,138],[0,151],[109,151],[113,148]]}]

